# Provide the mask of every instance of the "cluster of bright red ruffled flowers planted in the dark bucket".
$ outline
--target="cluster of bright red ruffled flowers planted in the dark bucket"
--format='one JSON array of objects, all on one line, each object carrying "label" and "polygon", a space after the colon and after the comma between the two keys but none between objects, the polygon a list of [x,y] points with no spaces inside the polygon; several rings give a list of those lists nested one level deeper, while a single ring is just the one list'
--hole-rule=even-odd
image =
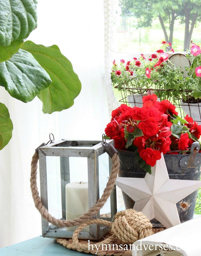
[{"label": "cluster of bright red ruffled flowers planted in the dark bucket", "polygon": [[122,104],[113,110],[105,134],[114,139],[115,148],[134,147],[147,165],[154,166],[161,153],[188,150],[195,137],[199,139],[201,135],[201,126],[191,117],[186,116],[182,126],[173,125],[177,115],[168,100],[157,101],[156,95],[147,95],[143,97],[142,108]]}]

